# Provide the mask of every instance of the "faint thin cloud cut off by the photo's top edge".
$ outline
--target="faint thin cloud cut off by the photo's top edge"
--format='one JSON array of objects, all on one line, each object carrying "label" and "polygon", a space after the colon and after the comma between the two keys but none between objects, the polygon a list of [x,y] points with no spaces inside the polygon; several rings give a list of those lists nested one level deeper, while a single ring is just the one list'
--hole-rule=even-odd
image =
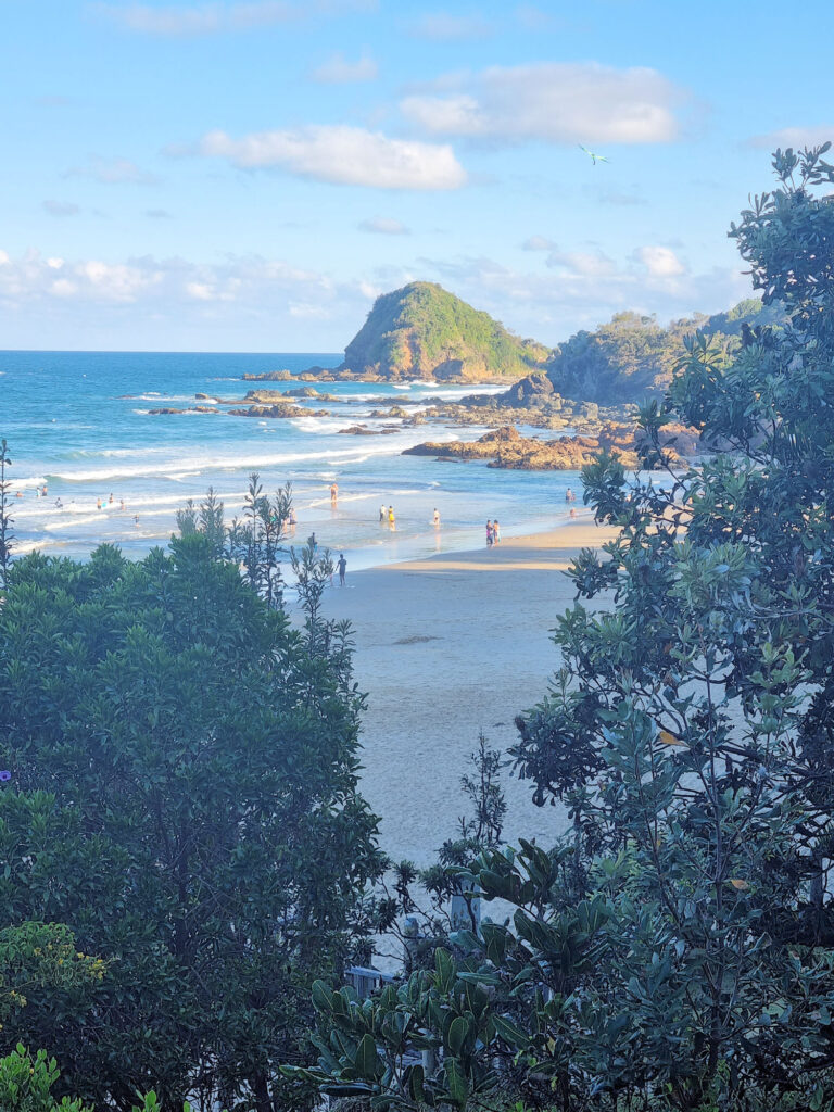
[{"label": "faint thin cloud cut off by the photo's top edge", "polygon": [[167,4],[93,3],[90,10],[126,31],[161,37],[248,31],[274,23],[288,23],[316,13],[370,11],[376,0],[249,0],[239,3]]}]

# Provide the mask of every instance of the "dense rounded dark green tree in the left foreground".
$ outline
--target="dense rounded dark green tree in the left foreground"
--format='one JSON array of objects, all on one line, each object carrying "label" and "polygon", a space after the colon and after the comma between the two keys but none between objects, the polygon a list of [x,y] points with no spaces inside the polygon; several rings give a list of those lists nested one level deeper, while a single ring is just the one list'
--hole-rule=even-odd
[{"label": "dense rounded dark green tree in the left foreground", "polygon": [[12,566],[3,921],[68,924],[108,975],[91,1011],[36,985],[8,1046],[48,1046],[97,1108],[151,1088],[166,1108],[304,1100],[277,1063],[302,1053],[309,985],[361,942],[379,871],[348,666],[199,530],[140,563],[101,546]]}]

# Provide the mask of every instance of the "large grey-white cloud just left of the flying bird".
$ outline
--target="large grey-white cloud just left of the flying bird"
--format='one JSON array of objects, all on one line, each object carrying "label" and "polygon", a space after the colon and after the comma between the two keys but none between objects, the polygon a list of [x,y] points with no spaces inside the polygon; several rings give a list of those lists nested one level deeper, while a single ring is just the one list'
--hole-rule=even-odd
[{"label": "large grey-white cloud just left of the flying bird", "polygon": [[404,98],[406,119],[431,135],[496,142],[671,142],[685,99],[657,70],[596,62],[494,66],[438,88],[445,91]]}]

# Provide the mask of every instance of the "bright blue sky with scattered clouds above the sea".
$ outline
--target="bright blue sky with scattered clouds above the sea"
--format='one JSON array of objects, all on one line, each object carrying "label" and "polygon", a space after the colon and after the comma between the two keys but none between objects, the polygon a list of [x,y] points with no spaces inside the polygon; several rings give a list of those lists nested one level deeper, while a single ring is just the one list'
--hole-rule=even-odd
[{"label": "bright blue sky with scattered clouds above the sea", "polygon": [[834,139],[828,0],[0,0],[0,27],[6,349],[339,351],[417,279],[550,345],[718,311],[770,152]]}]

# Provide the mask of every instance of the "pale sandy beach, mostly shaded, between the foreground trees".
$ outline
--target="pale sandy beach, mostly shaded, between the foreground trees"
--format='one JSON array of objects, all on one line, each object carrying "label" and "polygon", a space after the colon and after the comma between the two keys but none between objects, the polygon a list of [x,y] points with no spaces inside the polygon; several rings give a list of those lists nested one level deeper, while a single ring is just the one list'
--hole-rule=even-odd
[{"label": "pale sandy beach, mostly shaded, between the foreground trees", "polygon": [[[514,717],[546,693],[558,664],[550,631],[572,605],[560,574],[584,547],[612,536],[587,517],[487,549],[353,573],[326,596],[349,618],[363,719],[363,793],[381,817],[395,860],[428,864],[466,810],[459,780],[483,731],[506,749]],[[528,783],[504,774],[505,836],[547,843],[560,807],[536,807]]]}]

